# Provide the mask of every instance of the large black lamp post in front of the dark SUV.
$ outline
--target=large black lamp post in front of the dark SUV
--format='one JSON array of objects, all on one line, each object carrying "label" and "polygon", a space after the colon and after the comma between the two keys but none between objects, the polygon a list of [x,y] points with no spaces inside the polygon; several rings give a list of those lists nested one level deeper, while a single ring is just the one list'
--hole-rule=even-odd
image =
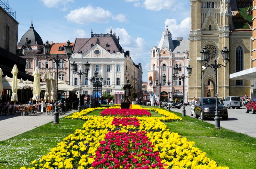
[{"label": "large black lamp post in front of the dark SUV", "polygon": [[[217,64],[217,60],[215,59],[214,64],[207,65],[209,62],[209,51],[206,49],[206,47],[203,48],[203,51],[201,53],[201,60],[203,65],[205,67],[210,67],[214,69],[214,75],[215,75],[215,97],[216,97],[216,107],[215,107],[215,128],[221,128],[220,121],[219,121],[219,116],[218,116],[218,92],[217,92],[217,71],[218,68],[221,67],[226,67],[227,63],[229,62],[229,50],[227,49],[226,46],[224,46],[224,50],[221,50],[222,54],[222,61],[224,62],[225,65],[222,64]],[[207,65],[207,66],[206,66]],[[203,102],[203,98],[202,98]],[[203,114],[203,110],[202,110]]]}]

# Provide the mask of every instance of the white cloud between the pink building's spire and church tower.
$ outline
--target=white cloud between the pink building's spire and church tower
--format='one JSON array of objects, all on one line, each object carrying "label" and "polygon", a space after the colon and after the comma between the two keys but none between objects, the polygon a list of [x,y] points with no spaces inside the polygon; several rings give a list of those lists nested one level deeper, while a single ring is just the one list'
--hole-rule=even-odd
[{"label": "white cloud between the pink building's spire and church tower", "polygon": [[166,19],[165,25],[168,25],[168,29],[174,37],[184,37],[186,39],[190,33],[190,21],[189,17],[181,21],[180,24],[177,24],[176,19]]}]

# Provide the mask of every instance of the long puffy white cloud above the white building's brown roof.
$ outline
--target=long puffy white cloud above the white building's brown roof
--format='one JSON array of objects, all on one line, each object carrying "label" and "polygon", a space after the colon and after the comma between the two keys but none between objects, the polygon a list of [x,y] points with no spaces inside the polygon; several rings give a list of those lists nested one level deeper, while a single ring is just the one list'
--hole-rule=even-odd
[{"label": "long puffy white cloud above the white building's brown roof", "polygon": [[95,8],[91,5],[74,9],[65,17],[68,21],[78,24],[108,23],[110,19],[117,20],[119,22],[127,22],[126,16],[123,14],[113,16],[109,10],[105,10],[101,7]]}]

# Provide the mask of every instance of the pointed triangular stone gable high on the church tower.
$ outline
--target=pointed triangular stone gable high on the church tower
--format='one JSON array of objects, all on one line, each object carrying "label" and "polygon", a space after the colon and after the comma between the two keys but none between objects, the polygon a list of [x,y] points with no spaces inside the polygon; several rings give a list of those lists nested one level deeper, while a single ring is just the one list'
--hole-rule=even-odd
[{"label": "pointed triangular stone gable high on the church tower", "polygon": [[217,23],[217,21],[214,17],[213,9],[211,8],[211,6],[210,6],[210,8],[207,12],[207,15],[206,15],[206,18],[203,22],[201,30],[209,31],[209,28],[211,30],[219,30],[219,26],[218,26],[218,23]]}]

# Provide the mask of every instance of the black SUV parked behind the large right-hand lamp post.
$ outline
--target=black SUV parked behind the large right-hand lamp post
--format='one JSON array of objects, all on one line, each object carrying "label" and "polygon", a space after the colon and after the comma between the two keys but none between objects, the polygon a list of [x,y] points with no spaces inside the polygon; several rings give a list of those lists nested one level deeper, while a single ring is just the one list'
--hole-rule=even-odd
[{"label": "black SUV parked behind the large right-hand lamp post", "polygon": [[[203,111],[201,110],[203,103]],[[215,107],[216,107],[216,98],[200,98],[197,103],[195,104],[194,112],[195,112],[195,118],[202,118],[202,112],[203,112],[203,120],[206,120],[206,118],[212,118],[215,117]],[[222,102],[218,99],[217,100],[217,111],[218,116],[222,117],[223,120],[227,120],[229,118],[229,114],[227,113],[227,108],[222,104]]]}]

